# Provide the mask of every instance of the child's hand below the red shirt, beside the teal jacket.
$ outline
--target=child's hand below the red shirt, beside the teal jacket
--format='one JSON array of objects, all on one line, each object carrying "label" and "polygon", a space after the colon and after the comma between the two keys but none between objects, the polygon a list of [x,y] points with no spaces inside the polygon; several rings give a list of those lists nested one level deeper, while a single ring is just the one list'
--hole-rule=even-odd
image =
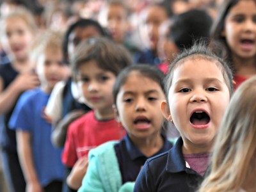
[{"label": "child's hand below the red shirt, beside the teal jacket", "polygon": [[67,177],[67,184],[72,189],[79,189],[82,185],[83,177],[88,168],[88,158],[79,158]]}]

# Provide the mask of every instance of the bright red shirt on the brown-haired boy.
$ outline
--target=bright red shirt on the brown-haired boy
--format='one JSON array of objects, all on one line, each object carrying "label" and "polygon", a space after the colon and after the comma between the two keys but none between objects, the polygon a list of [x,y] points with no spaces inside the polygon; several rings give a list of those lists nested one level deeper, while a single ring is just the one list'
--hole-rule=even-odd
[{"label": "bright red shirt on the brown-haired boy", "polygon": [[125,134],[125,129],[114,118],[100,122],[90,111],[68,127],[62,162],[73,167],[79,157],[88,156],[90,149],[106,141],[120,140]]}]

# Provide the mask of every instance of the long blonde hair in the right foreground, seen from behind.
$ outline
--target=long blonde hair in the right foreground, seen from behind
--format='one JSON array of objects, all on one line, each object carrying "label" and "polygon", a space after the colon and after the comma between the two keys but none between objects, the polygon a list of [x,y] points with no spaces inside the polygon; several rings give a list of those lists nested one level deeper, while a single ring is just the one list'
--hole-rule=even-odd
[{"label": "long blonde hair in the right foreground, seen from behind", "polygon": [[211,171],[198,191],[239,191],[255,170],[256,76],[234,93],[220,125]]}]

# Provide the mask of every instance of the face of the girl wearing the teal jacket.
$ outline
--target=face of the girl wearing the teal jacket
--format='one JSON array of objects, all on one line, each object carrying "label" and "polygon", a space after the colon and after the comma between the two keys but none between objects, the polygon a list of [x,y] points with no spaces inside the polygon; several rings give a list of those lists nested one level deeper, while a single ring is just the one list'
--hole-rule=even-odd
[{"label": "face of the girl wearing the teal jacket", "polygon": [[131,140],[145,140],[160,134],[164,120],[160,104],[164,99],[164,92],[156,81],[136,71],[129,74],[116,97],[116,109]]}]

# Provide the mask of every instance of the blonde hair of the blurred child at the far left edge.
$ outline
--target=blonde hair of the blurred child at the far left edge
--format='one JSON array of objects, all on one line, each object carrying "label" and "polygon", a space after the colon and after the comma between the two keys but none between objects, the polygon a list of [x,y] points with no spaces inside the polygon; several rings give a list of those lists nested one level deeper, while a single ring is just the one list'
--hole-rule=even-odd
[{"label": "blonde hair of the blurred child at the far left edge", "polygon": [[[7,15],[4,15],[1,18],[1,22],[0,22],[1,26],[5,26],[5,22],[13,18],[19,18],[24,20],[24,22],[26,22],[26,24],[28,25],[28,28],[30,29],[31,33],[36,34],[38,27],[36,26],[36,21],[33,17],[33,14],[29,10],[23,7],[15,8],[15,10],[8,13]],[[4,35],[5,30],[6,30],[5,28],[1,28],[0,35]]]}]

